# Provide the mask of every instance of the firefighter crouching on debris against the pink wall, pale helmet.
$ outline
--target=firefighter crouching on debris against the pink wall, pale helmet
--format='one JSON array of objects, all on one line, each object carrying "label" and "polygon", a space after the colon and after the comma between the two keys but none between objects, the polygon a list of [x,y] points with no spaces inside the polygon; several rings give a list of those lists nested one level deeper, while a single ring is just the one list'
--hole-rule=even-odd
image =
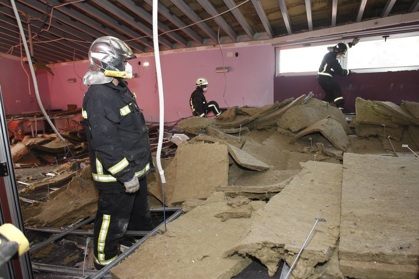
[{"label": "firefighter crouching on debris against the pink wall, pale helmet", "polygon": [[215,101],[207,102],[205,100],[204,92],[207,91],[208,81],[204,77],[199,77],[196,82],[197,89],[192,92],[189,99],[191,105],[192,115],[207,117],[207,113],[212,111],[215,116],[222,113],[220,106]]}]

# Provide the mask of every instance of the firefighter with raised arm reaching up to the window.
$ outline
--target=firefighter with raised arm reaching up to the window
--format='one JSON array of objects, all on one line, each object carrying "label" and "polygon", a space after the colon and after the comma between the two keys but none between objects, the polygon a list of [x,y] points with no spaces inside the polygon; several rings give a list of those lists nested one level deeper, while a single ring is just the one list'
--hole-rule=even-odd
[{"label": "firefighter with raised arm reaching up to the window", "polygon": [[336,107],[340,108],[344,113],[346,113],[347,110],[344,109],[345,101],[342,97],[342,90],[339,84],[334,81],[333,76],[335,74],[346,76],[348,74],[355,73],[351,70],[342,69],[338,59],[345,57],[348,49],[356,45],[358,41],[359,38],[354,38],[351,43],[339,43],[329,49],[329,52],[323,56],[317,73],[317,81],[321,88],[323,88],[324,92],[326,92],[326,96],[323,98],[323,101],[334,102]]}]

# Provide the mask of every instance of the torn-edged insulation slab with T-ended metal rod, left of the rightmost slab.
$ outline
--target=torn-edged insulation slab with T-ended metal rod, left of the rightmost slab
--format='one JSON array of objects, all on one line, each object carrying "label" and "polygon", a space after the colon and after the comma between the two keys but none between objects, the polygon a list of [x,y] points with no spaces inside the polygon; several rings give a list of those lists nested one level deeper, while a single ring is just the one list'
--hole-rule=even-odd
[{"label": "torn-edged insulation slab with T-ended metal rod, left of the rightmost slab", "polygon": [[257,218],[225,256],[255,256],[273,276],[281,259],[291,266],[316,218],[324,218],[327,222],[318,223],[292,275],[307,278],[330,258],[339,238],[342,167],[314,161],[301,165],[300,174],[255,212]]}]

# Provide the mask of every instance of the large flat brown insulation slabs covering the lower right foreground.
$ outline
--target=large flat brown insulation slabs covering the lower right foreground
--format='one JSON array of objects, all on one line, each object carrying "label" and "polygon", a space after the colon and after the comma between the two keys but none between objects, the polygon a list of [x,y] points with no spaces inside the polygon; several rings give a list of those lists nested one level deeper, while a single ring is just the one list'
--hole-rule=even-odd
[{"label": "large flat brown insulation slabs covering the lower right foreground", "polygon": [[[290,278],[415,278],[419,159],[345,153],[343,166],[301,166],[268,202],[252,201],[244,188],[217,187],[111,269],[112,276],[231,278],[251,256],[274,276],[280,261],[292,265],[316,218],[324,218]],[[145,264],[132,264],[139,259]]]}]

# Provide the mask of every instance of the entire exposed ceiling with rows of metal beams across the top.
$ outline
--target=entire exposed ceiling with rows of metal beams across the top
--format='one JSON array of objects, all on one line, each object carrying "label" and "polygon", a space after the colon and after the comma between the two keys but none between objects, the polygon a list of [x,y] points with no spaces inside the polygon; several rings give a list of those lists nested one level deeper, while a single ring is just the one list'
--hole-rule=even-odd
[{"label": "entire exposed ceiling with rows of metal beams across the top", "polygon": [[[153,51],[153,19],[149,10],[149,6],[153,5],[152,0],[85,0],[77,3],[72,3],[72,0],[15,1],[26,36],[27,16],[30,19],[34,56],[46,63],[87,59],[91,42],[101,36],[120,38],[135,53]],[[347,0],[339,5],[339,9],[337,0],[331,1],[331,8],[314,5],[311,0],[294,3],[290,0],[251,0],[252,4],[235,8],[243,1],[159,0],[158,29],[164,33],[158,38],[161,50],[218,44],[219,28],[222,30],[220,41],[243,42],[305,32],[307,28],[312,31],[334,27],[346,24],[349,17],[356,22],[371,17],[371,13],[367,13],[367,0]],[[370,0],[368,5],[372,5],[372,2],[379,7],[381,17],[419,10],[419,0],[407,0],[404,3]],[[62,4],[67,5],[56,7]],[[358,7],[357,10],[354,10],[354,5]],[[230,11],[219,15],[226,10]],[[301,22],[302,13],[306,13],[307,23]],[[197,23],[201,20],[205,21]],[[191,23],[195,23],[195,26],[189,27]],[[327,23],[330,26],[325,25]],[[180,30],[165,33],[175,28]],[[19,36],[10,0],[0,0],[0,51],[10,52],[12,46],[19,44]],[[15,47],[11,54],[20,56],[20,48]]]}]

